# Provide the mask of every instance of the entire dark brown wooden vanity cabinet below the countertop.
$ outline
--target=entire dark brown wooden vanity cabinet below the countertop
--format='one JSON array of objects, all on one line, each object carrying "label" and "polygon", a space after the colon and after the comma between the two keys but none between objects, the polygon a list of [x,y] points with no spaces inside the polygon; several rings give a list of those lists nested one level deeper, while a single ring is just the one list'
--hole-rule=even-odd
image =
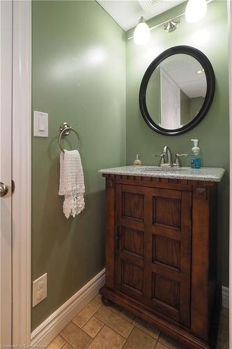
[{"label": "entire dark brown wooden vanity cabinet below the countertop", "polygon": [[221,302],[217,183],[103,176],[103,302],[123,306],[190,348],[214,348]]}]

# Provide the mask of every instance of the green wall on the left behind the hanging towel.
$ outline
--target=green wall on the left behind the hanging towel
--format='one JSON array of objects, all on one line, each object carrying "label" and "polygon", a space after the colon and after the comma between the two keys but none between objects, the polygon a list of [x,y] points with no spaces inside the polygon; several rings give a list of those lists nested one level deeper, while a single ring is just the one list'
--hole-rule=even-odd
[{"label": "green wall on the left behind the hanging towel", "polygon": [[[32,280],[48,274],[34,329],[105,266],[98,170],[125,163],[125,33],[95,1],[33,1],[32,25],[32,105],[49,114],[49,138],[32,140]],[[63,121],[81,137],[86,185],[86,209],[68,220],[58,195]]]}]

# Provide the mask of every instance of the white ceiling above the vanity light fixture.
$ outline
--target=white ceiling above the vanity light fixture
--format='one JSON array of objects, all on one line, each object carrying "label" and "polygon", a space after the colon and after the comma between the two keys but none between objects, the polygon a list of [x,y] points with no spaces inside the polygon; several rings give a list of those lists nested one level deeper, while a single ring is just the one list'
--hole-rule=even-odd
[{"label": "white ceiling above the vanity light fixture", "polygon": [[125,30],[134,27],[139,18],[150,20],[186,0],[97,0],[109,15]]}]

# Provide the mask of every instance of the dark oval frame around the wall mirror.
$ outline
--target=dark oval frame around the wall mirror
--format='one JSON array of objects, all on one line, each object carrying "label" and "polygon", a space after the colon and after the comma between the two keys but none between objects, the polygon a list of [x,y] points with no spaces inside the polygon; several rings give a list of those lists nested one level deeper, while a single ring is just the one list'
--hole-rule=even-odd
[{"label": "dark oval frame around the wall mirror", "polygon": [[[164,59],[166,59],[167,57],[173,56],[173,54],[188,54],[194,57],[197,61],[199,61],[199,63],[203,67],[206,74],[207,90],[206,90],[205,101],[201,107],[201,110],[196,115],[196,117],[194,117],[194,119],[190,121],[189,124],[186,124],[181,128],[168,130],[166,128],[162,128],[159,125],[155,124],[155,121],[153,121],[153,119],[150,117],[150,114],[148,112],[148,108],[146,105],[146,89],[148,87],[150,76],[152,75],[155,68],[157,68],[157,66],[162,61],[164,61]],[[146,121],[146,124],[148,124],[148,126],[152,128],[155,132],[161,133],[162,135],[182,135],[183,133],[192,130],[192,128],[194,128],[197,124],[199,124],[199,122],[201,122],[203,117],[206,116],[212,104],[214,94],[215,94],[215,73],[206,55],[203,54],[203,52],[191,46],[175,46],[162,52],[162,54],[156,57],[154,61],[152,61],[150,66],[148,66],[144,74],[144,77],[141,81],[141,86],[139,89],[139,107],[141,110],[141,114],[144,117],[144,120]]]}]

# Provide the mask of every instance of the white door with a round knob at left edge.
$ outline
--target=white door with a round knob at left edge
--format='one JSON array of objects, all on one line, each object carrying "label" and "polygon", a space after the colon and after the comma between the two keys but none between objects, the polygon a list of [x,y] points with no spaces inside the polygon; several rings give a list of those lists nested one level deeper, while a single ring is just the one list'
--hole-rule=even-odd
[{"label": "white door with a round knob at left edge", "polygon": [[12,337],[12,1],[0,1],[1,114],[0,114],[0,343]]}]

